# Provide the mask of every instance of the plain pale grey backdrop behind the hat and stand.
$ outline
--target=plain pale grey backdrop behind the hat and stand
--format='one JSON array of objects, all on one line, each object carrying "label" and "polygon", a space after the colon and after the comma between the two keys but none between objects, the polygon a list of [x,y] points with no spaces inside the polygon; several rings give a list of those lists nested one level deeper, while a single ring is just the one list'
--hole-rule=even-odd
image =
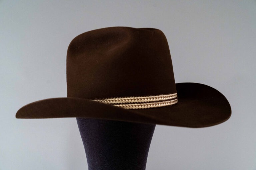
[{"label": "plain pale grey backdrop behind the hat and stand", "polygon": [[0,169],[87,169],[75,118],[15,119],[66,97],[66,51],[86,31],[152,27],[169,42],[176,83],[223,93],[231,118],[209,128],[156,126],[147,170],[256,170],[256,1],[0,0]]}]

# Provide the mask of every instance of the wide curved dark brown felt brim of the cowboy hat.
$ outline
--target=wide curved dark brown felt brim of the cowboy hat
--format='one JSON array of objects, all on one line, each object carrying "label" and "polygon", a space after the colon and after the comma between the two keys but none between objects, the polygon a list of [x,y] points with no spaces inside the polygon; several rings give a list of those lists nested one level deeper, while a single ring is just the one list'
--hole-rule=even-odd
[{"label": "wide curved dark brown felt brim of the cowboy hat", "polygon": [[214,126],[231,116],[231,107],[218,90],[199,83],[177,83],[178,103],[150,109],[123,109],[81,98],[51,98],[20,108],[16,118],[95,118],[189,128]]}]

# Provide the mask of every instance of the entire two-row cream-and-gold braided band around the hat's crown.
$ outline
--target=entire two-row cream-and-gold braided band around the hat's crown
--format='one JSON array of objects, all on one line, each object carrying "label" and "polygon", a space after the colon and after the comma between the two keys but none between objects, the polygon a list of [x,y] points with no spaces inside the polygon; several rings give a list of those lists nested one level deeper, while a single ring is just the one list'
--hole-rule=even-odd
[{"label": "entire two-row cream-and-gold braided band around the hat's crown", "polygon": [[147,109],[164,106],[171,106],[178,103],[177,93],[155,95],[155,96],[138,96],[138,97],[118,97],[94,99],[93,101],[111,104],[124,109]]}]

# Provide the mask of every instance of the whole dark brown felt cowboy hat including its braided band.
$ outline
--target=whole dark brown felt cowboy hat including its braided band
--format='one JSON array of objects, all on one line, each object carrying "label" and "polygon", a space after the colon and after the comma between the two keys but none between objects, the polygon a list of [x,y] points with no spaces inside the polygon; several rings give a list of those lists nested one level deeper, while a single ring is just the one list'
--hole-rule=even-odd
[{"label": "whole dark brown felt cowboy hat including its braided band", "polygon": [[16,118],[96,118],[209,127],[231,116],[227,99],[199,83],[175,84],[169,46],[153,28],[110,27],[75,37],[67,51],[67,97],[36,101]]}]

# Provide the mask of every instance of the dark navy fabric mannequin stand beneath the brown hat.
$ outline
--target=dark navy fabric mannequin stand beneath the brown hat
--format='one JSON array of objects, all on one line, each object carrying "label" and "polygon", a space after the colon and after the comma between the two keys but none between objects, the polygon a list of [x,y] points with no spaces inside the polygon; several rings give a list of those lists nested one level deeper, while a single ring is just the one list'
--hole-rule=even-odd
[{"label": "dark navy fabric mannequin stand beneath the brown hat", "polygon": [[89,170],[145,170],[156,125],[77,118]]}]

